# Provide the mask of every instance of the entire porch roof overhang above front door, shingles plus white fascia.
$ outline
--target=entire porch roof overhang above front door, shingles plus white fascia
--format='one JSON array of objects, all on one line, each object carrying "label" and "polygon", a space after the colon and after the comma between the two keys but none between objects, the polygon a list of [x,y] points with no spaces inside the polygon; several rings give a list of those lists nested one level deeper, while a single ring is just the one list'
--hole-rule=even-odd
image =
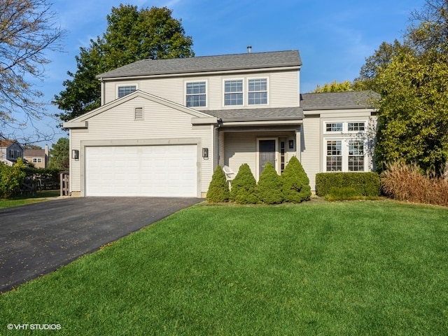
[{"label": "entire porch roof overhang above front door, shingles plus white fascia", "polygon": [[297,125],[301,124],[304,118],[301,107],[211,110],[207,111],[207,114],[220,119],[223,127]]}]

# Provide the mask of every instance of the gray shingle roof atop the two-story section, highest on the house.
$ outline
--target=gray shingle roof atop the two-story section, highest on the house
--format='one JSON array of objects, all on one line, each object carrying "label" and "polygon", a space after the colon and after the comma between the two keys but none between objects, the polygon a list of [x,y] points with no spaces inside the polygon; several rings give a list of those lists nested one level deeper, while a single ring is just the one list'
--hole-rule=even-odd
[{"label": "gray shingle roof atop the two-story section, highest on the house", "polygon": [[300,66],[298,50],[252,52],[235,55],[202,56],[174,59],[144,59],[98,75],[97,78],[151,76],[204,71],[265,69],[277,66]]}]

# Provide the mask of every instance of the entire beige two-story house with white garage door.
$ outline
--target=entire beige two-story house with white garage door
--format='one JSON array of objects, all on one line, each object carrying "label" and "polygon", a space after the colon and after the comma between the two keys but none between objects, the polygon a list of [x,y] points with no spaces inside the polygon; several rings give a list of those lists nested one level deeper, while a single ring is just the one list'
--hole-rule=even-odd
[{"label": "entire beige two-story house with white garage door", "polygon": [[[368,92],[300,94],[297,50],[146,59],[99,76],[102,106],[70,130],[73,196],[204,197],[217,165],[293,156],[318,172],[367,172]],[[373,137],[373,135],[372,135]]]}]

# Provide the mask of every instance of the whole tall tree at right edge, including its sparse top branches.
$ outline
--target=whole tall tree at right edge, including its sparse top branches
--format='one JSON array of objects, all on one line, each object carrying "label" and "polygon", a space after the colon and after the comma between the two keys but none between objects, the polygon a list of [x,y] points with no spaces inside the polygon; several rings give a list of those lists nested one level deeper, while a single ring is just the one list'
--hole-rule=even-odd
[{"label": "whole tall tree at right edge, including its sparse top branches", "polygon": [[374,76],[379,101],[378,167],[416,162],[442,174],[448,160],[448,1],[427,0],[405,43]]}]

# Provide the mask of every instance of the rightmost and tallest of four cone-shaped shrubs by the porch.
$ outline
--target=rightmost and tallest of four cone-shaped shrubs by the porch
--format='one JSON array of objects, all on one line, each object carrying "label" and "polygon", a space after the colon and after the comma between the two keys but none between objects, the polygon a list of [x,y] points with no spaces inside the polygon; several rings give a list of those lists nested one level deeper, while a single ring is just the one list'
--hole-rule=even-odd
[{"label": "rightmost and tallest of four cone-shaped shrubs by the porch", "polygon": [[307,173],[300,161],[293,156],[281,175],[285,202],[300,203],[311,197],[311,187]]}]

